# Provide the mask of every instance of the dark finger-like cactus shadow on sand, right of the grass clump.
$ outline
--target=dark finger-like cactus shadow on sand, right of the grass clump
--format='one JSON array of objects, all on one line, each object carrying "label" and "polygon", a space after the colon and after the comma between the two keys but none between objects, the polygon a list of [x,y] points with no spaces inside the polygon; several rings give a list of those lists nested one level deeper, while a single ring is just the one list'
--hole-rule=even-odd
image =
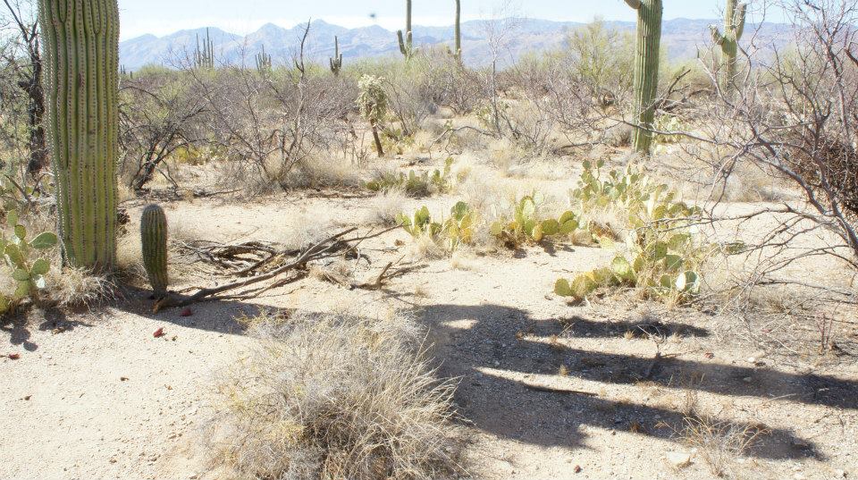
[{"label": "dark finger-like cactus shadow on sand, right of the grass clump", "polygon": [[[569,376],[600,383],[635,384],[646,379],[650,385],[686,391],[767,400],[772,398],[770,395],[789,395],[789,400],[803,403],[858,408],[858,384],[829,376],[793,375],[676,358],[664,358],[652,367],[652,358],[571,349],[549,338],[563,333],[559,322],[533,319],[515,307],[430,305],[418,310],[417,316],[430,327],[431,340],[442,349],[438,356],[444,359],[440,373],[462,378],[456,401],[464,416],[477,428],[520,442],[583,448],[585,430],[593,426],[675,441],[686,415],[672,406],[606,400],[597,392],[593,396],[584,392],[542,392],[533,388],[538,386],[537,379],[529,384],[507,378],[503,371],[526,377],[556,375],[558,367],[565,365]],[[570,319],[569,324],[576,334],[602,338],[622,337],[628,328],[636,326],[580,317]],[[660,329],[696,336],[709,334],[706,329],[686,324],[660,323]],[[531,340],[532,336],[536,338]],[[689,375],[702,375],[705,381],[677,385],[677,378]],[[759,381],[744,381],[748,375]],[[770,434],[762,436],[748,454],[765,459],[821,458],[812,442],[786,429],[766,430]]]}]

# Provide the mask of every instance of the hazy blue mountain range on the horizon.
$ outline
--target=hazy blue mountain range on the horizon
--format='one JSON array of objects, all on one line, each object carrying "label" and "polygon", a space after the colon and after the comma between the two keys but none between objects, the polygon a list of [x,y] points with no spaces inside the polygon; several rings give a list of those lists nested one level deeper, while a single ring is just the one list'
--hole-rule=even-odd
[{"label": "hazy blue mountain range on the horizon", "polygon": [[[538,52],[562,45],[570,29],[583,26],[573,21],[547,21],[526,19],[516,21],[517,28],[510,36],[509,49],[501,58],[509,63],[526,52]],[[633,31],[635,23],[607,21],[611,28]],[[719,24],[717,20],[676,19],[665,21],[662,27],[662,43],[667,49],[670,60],[693,59],[698,46],[708,46],[710,42],[709,25]],[[491,62],[491,51],[486,34],[487,21],[466,21],[462,23],[462,50],[465,62],[472,66],[481,66]],[[222,29],[209,28],[209,37],[214,42],[214,51],[221,63],[254,63],[254,55],[265,46],[265,52],[273,57],[273,63],[290,63],[296,54],[301,34],[306,24],[290,29],[273,23],[262,26],[245,37]],[[749,26],[745,31],[755,30]],[[760,26],[758,38],[762,43],[785,46],[790,41],[789,27],[777,23],[764,23]],[[333,55],[333,37],[340,38],[340,50],[344,58],[357,59],[399,55],[396,34],[379,26],[347,29],[316,20],[310,25],[305,55],[319,62],[327,62]],[[120,61],[126,69],[134,71],[147,63],[159,63],[178,66],[186,63],[197,45],[197,38],[206,37],[206,28],[180,30],[165,37],[144,35],[120,43]],[[416,45],[451,45],[453,27],[414,28]]]}]

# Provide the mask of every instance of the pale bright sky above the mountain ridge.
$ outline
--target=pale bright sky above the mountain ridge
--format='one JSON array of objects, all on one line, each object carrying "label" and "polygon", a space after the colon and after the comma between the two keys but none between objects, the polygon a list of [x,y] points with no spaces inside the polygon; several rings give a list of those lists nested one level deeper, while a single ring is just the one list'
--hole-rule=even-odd
[{"label": "pale bright sky above the mountain ridge", "polygon": [[[491,18],[502,4],[529,18],[590,21],[596,15],[608,20],[635,19],[623,0],[462,0],[463,20]],[[414,0],[418,25],[450,25],[454,0]],[[723,0],[664,0],[665,19],[715,18]],[[404,0],[119,0],[122,39],[144,33],[161,36],[179,29],[214,26],[245,34],[266,22],[291,27],[307,18],[344,27],[377,23],[400,29]],[[377,15],[375,20],[370,13]]]}]

